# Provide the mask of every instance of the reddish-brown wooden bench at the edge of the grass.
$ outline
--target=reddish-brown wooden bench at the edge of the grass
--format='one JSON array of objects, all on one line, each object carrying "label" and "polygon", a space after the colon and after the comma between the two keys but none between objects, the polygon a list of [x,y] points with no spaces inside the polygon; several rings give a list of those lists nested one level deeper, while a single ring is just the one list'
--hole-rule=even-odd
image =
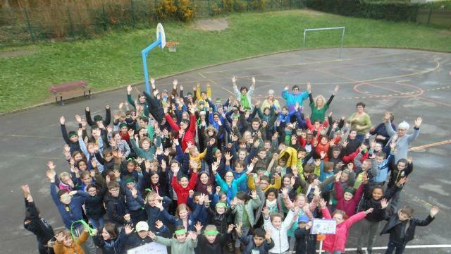
[{"label": "reddish-brown wooden bench at the edge of the grass", "polygon": [[91,99],[91,88],[87,86],[87,80],[51,85],[49,91],[55,96],[56,103],[58,103],[59,97],[59,104],[61,105],[64,105],[63,97],[64,99],[80,97],[82,92],[84,97]]}]

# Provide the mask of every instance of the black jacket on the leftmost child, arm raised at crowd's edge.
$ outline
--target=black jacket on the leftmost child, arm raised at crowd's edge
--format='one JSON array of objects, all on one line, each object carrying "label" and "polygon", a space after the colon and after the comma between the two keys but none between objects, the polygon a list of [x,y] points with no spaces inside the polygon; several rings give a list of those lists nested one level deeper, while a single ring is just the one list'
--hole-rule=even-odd
[{"label": "black jacket on the leftmost child, arm raised at crowd's edge", "polygon": [[24,219],[23,226],[25,229],[35,234],[39,246],[47,246],[47,242],[55,235],[54,229],[51,227],[49,222],[39,218],[39,213],[35,207],[35,202],[28,202],[25,198],[25,209],[27,210],[28,216],[30,216],[27,218],[30,219],[30,222],[25,223],[26,219]]}]

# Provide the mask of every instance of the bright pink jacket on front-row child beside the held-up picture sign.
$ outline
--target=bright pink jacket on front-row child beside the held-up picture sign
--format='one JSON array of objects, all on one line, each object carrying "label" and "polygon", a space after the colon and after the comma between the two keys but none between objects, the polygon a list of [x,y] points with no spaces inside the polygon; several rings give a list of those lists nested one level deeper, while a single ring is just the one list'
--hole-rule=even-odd
[{"label": "bright pink jacket on front-row child beside the held-up picture sign", "polygon": [[[321,208],[321,212],[323,212],[323,217],[325,219],[332,219],[327,207]],[[338,224],[335,234],[326,235],[326,240],[323,242],[324,250],[330,253],[333,253],[333,250],[340,250],[341,252],[344,252],[347,241],[347,231],[350,229],[352,224],[364,219],[365,216],[365,212],[359,212],[345,220],[345,222]]]}]

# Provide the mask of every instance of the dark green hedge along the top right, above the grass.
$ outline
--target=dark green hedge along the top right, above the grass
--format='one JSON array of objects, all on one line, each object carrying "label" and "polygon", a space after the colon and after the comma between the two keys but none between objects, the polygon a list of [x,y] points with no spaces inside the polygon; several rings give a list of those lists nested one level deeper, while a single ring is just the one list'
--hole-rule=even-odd
[{"label": "dark green hedge along the top right, above the grass", "polygon": [[425,4],[378,2],[360,0],[308,0],[307,7],[342,16],[395,21],[416,21],[418,11]]}]

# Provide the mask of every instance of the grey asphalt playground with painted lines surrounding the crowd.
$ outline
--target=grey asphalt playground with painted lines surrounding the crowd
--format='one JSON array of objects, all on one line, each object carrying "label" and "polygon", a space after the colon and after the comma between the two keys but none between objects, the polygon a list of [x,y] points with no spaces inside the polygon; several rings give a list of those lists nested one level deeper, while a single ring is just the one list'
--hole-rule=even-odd
[{"label": "grey asphalt playground with painted lines surrounding the crowd", "polygon": [[[402,191],[400,205],[412,205],[419,218],[426,217],[432,205],[441,210],[430,226],[417,228],[416,238],[409,243],[412,248],[405,253],[451,253],[451,54],[346,48],[338,59],[338,49],[285,52],[174,75],[156,80],[156,86],[170,90],[173,78],[177,78],[189,91],[196,83],[206,87],[208,82],[213,98],[226,99],[233,90],[233,75],[238,87],[249,86],[252,76],[256,78],[254,102],[263,100],[268,89],[273,89],[284,104],[280,92],[285,85],[299,85],[304,90],[310,82],[313,95],[326,98],[335,85],[340,85],[329,109],[334,118],[349,116],[361,101],[366,103],[373,125],[381,123],[385,111],[395,113],[395,124],[405,120],[413,126],[414,119],[422,116],[421,133],[410,152],[414,172]],[[133,96],[143,89],[143,85],[137,85]],[[35,236],[23,228],[23,183],[30,185],[42,217],[54,229],[63,226],[45,177],[49,160],[55,162],[57,172],[68,170],[61,154],[59,117],[66,116],[68,130],[75,130],[75,114],[84,115],[85,107],[89,107],[93,114],[104,115],[106,104],[117,111],[125,95],[123,87],[96,94],[91,100],[74,99],[65,106],[50,104],[0,117],[0,253],[37,253]],[[308,105],[304,107],[309,112]],[[347,248],[356,246],[357,235],[352,231]],[[375,246],[385,247],[387,243],[388,237],[381,236]]]}]

